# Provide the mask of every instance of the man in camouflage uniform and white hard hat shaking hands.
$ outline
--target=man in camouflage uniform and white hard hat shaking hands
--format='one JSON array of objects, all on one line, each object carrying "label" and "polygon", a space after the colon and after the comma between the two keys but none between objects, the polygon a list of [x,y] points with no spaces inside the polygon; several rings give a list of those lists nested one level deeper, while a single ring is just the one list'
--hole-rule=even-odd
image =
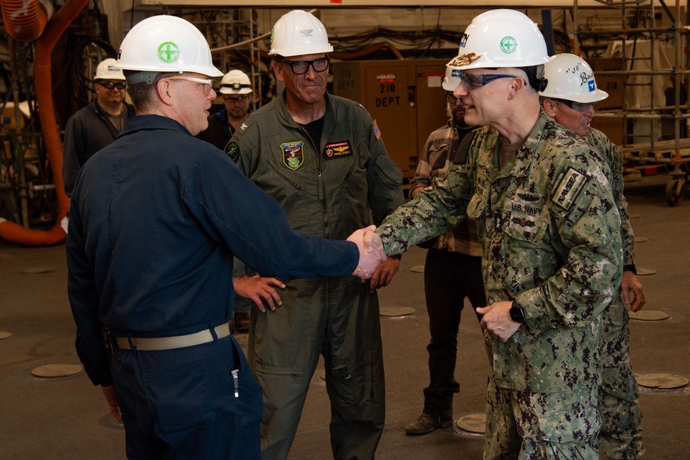
[{"label": "man in camouflage uniform and white hard hat shaking hands", "polygon": [[479,128],[443,181],[384,219],[387,254],[477,220],[491,360],[485,459],[598,459],[598,344],[621,277],[620,218],[582,138],[540,110],[549,60],[524,14],[476,17],[448,66]]}]

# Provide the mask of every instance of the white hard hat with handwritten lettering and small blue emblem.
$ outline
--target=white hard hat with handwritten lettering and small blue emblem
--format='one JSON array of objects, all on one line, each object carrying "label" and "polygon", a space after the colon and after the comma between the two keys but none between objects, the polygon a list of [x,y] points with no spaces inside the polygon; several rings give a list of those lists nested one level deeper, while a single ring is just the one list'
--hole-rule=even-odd
[{"label": "white hard hat with handwritten lettering and small blue emblem", "polygon": [[549,80],[542,97],[566,99],[573,102],[598,102],[609,93],[597,88],[594,71],[584,59],[575,54],[562,53],[551,57],[544,66],[544,78]]}]

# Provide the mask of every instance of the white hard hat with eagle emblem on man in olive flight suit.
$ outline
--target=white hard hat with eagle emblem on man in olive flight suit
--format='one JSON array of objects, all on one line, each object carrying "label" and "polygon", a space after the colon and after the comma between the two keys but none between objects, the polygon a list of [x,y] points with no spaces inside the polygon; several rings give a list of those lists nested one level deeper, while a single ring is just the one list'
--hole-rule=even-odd
[{"label": "white hard hat with eagle emblem on man in olive flight suit", "polygon": [[326,28],[306,11],[292,10],[283,14],[270,33],[268,54],[290,57],[331,51],[333,46],[328,43]]}]

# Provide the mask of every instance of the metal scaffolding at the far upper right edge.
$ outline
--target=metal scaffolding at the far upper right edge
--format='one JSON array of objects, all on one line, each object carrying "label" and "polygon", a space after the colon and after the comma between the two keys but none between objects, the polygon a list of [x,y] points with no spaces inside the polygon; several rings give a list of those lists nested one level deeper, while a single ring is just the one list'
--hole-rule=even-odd
[{"label": "metal scaffolding at the far upper right edge", "polygon": [[[621,11],[622,24],[620,29],[580,30],[578,0],[574,1],[573,22],[575,23],[575,50],[579,50],[580,43],[595,39],[620,41],[623,59],[623,70],[597,72],[598,76],[620,76],[622,78],[622,107],[618,110],[601,110],[598,117],[620,119],[623,132],[624,159],[629,163],[659,164],[670,170],[671,179],[667,184],[666,198],[671,206],[682,203],[685,182],[688,172],[686,161],[690,161],[690,139],[687,138],[688,113],[688,69],[690,34],[690,12],[680,7],[676,0],[675,10],[660,3],[663,11],[659,11],[654,0],[613,1],[599,0],[602,5],[617,8]],[[670,26],[660,26],[664,14],[671,20]],[[681,18],[684,14],[684,23]],[[640,27],[642,26],[642,27]],[[649,41],[649,56],[635,55],[638,40]],[[658,42],[673,43],[673,59],[671,68],[656,68],[660,62]],[[632,49],[630,49],[632,47]],[[635,66],[644,60],[644,70]],[[655,92],[659,90],[659,77],[668,77],[673,84],[672,101],[658,101]],[[663,82],[661,82],[664,85]],[[649,91],[644,104],[635,103],[631,97],[633,92],[640,94]],[[668,99],[668,94],[664,99]],[[671,103],[669,103],[671,102]],[[669,122],[673,126],[673,134],[663,136],[663,127],[668,128]],[[649,124],[649,132],[635,130],[643,123]],[[638,142],[637,139],[642,139]]]}]

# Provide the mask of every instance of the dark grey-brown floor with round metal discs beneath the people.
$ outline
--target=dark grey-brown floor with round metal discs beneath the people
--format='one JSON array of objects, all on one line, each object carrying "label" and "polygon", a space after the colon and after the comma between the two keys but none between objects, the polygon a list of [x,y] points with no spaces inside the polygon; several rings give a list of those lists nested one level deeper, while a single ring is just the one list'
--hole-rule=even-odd
[{"label": "dark grey-brown floor with round metal discs beneath the people", "polygon": [[[664,177],[627,186],[629,212],[637,237],[638,268],[657,270],[640,277],[647,294],[645,310],[671,315],[664,321],[631,321],[631,359],[637,374],[671,373],[690,377],[690,196],[670,208]],[[145,249],[145,248],[142,248]],[[66,295],[64,246],[20,248],[0,241],[0,459],[122,459],[124,430],[112,421],[98,388],[83,371],[72,377],[37,378],[32,369],[52,363],[78,364],[75,326]],[[408,317],[382,317],[386,366],[386,428],[378,459],[482,458],[482,437],[436,430],[408,437],[402,425],[422,410],[428,381],[428,316],[422,274],[424,250],[403,257],[391,286],[380,292],[382,307],[412,307]],[[39,270],[36,270],[39,269]],[[43,273],[25,273],[43,271]],[[455,416],[484,410],[488,366],[473,315],[460,326]],[[246,342],[246,336],[239,336]],[[329,405],[319,366],[312,380],[290,459],[328,459]],[[690,388],[642,389],[642,429],[649,460],[690,458]]]}]

